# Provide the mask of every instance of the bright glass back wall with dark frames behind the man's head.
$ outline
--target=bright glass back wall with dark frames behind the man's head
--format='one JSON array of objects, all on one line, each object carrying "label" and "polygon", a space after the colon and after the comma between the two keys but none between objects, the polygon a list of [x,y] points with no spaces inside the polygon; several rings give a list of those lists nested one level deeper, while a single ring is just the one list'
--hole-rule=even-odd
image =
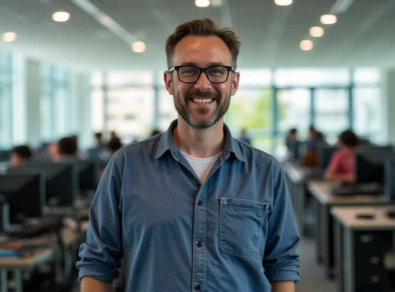
[{"label": "bright glass back wall with dark frames behind the man's head", "polygon": [[[240,69],[237,94],[225,122],[235,137],[245,129],[251,144],[281,157],[284,138],[296,128],[307,139],[314,125],[327,142],[352,128],[365,138],[380,131],[380,72],[376,68]],[[165,131],[177,118],[163,71],[92,74],[92,124],[95,131],[115,131],[124,143]],[[334,122],[335,121],[335,122]]]}]

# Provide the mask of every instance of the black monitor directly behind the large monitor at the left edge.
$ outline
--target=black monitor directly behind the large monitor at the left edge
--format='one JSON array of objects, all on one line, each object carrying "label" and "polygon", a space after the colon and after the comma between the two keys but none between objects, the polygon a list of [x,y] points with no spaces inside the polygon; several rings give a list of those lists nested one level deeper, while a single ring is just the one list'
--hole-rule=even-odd
[{"label": "black monitor directly behind the large monitor at the left edge", "polygon": [[79,170],[76,162],[29,161],[23,167],[39,168],[44,171],[47,204],[73,205],[79,192]]}]

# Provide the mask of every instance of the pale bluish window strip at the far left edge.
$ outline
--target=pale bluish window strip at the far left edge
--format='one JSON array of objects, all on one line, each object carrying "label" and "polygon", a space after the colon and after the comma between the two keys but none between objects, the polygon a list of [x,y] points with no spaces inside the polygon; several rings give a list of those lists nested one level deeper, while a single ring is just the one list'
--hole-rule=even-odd
[{"label": "pale bluish window strip at the far left edge", "polygon": [[12,55],[0,50],[0,149],[12,146]]}]

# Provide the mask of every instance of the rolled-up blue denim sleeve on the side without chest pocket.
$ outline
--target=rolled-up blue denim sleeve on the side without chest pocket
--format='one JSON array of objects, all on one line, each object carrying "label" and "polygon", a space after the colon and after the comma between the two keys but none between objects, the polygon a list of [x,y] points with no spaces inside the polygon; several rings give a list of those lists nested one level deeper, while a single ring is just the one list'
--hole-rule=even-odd
[{"label": "rolled-up blue denim sleeve on the side without chest pocket", "polygon": [[113,283],[123,256],[119,200],[120,176],[116,155],[110,160],[89,209],[86,242],[79,248],[79,281],[92,277]]}]

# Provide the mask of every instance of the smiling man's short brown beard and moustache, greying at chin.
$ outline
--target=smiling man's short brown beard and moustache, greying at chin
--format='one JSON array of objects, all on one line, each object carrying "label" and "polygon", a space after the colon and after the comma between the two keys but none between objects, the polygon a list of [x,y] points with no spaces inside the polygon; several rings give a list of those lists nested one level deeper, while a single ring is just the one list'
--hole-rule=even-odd
[{"label": "smiling man's short brown beard and moustache, greying at chin", "polygon": [[[212,111],[211,109],[203,108],[196,108],[194,112],[192,112],[189,106],[189,101],[194,98],[213,99],[213,102],[217,105],[214,112],[210,114],[210,111]],[[174,107],[176,108],[178,114],[188,125],[196,129],[209,128],[218,123],[218,121],[228,111],[230,101],[231,92],[229,92],[229,95],[225,94],[225,96],[211,91],[194,91],[185,94],[184,97],[181,97],[181,95],[178,93],[174,94]]]}]

